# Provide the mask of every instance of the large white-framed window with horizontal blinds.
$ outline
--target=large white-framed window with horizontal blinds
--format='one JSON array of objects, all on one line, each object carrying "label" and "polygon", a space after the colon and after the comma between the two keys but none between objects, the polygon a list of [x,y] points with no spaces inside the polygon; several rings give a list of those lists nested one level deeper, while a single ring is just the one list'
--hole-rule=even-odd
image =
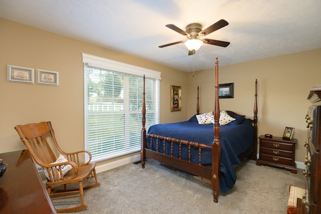
[{"label": "large white-framed window with horizontal blinds", "polygon": [[[85,148],[93,161],[140,150],[143,75],[145,128],[159,123],[159,72],[83,54]],[[88,159],[88,157],[86,157]]]}]

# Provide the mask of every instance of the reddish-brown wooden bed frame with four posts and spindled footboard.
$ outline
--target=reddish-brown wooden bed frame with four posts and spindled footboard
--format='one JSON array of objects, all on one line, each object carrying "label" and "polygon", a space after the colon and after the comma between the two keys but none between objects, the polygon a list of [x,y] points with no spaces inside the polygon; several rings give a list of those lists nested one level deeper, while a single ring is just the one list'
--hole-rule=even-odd
[{"label": "reddish-brown wooden bed frame with four posts and spindled footboard", "polygon": [[[219,96],[218,96],[218,59],[216,58],[215,62],[215,105],[214,105],[214,139],[213,144],[211,146],[207,146],[205,144],[200,144],[198,142],[191,142],[187,140],[181,140],[181,139],[175,139],[171,138],[171,136],[161,136],[161,135],[155,135],[155,134],[149,134],[146,133],[145,130],[145,77],[143,78],[143,107],[142,107],[142,130],[141,130],[141,164],[142,168],[145,167],[145,160],[146,157],[155,159],[159,162],[162,162],[164,164],[170,165],[172,167],[181,169],[183,171],[186,171],[188,173],[191,173],[196,176],[201,176],[206,179],[211,180],[212,189],[213,189],[213,196],[214,196],[214,202],[218,202],[218,195],[220,191],[220,168],[221,168],[221,144],[220,144],[220,124],[219,124],[219,118],[220,118],[220,106],[219,106]],[[199,113],[199,93],[197,97],[197,113]],[[243,160],[245,158],[251,158],[256,160],[256,153],[257,153],[257,81],[255,81],[255,96],[254,96],[254,117],[253,120],[250,119],[250,121],[253,124],[254,129],[254,135],[253,135],[253,146],[249,148],[246,152],[239,155],[239,159]],[[228,113],[233,113],[231,111],[227,111]],[[244,116],[244,115],[242,115]],[[150,142],[147,142],[146,136],[150,137]],[[157,139],[156,143],[156,150],[148,149],[147,143],[150,143],[150,148],[152,148],[152,138]],[[158,149],[158,140],[168,141],[171,143],[171,155],[165,154],[165,147],[163,148],[164,152],[159,152]],[[165,142],[163,142],[163,145],[165,146]],[[179,157],[173,156],[173,147],[174,144],[178,144],[180,148]],[[187,145],[189,146],[189,160],[182,159],[182,151],[181,146]],[[199,163],[191,162],[191,147],[197,147],[199,151]],[[201,165],[202,160],[202,149],[212,149],[212,166],[208,167],[205,165]]]}]

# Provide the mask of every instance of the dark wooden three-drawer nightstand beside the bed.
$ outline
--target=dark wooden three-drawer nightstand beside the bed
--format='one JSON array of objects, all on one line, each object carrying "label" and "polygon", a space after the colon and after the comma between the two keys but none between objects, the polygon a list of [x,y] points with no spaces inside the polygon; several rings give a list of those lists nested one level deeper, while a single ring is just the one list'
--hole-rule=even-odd
[{"label": "dark wooden three-drawer nightstand beside the bed", "polygon": [[259,136],[260,140],[260,156],[256,161],[256,165],[269,165],[291,170],[296,174],[295,144],[297,139],[286,140],[282,137],[265,138],[264,135]]}]

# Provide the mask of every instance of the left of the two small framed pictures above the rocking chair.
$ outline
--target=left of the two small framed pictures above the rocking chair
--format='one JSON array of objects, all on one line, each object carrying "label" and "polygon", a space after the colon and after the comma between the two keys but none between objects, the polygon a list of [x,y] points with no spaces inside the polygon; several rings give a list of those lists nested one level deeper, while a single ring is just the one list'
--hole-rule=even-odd
[{"label": "left of the two small framed pictures above the rocking chair", "polygon": [[20,66],[7,66],[8,82],[34,84],[34,69]]}]

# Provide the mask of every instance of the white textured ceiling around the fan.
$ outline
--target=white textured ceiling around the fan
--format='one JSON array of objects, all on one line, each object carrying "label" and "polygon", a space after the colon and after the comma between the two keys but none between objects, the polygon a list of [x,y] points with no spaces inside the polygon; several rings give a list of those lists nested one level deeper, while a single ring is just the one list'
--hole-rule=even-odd
[{"label": "white textured ceiling around the fan", "polygon": [[[321,48],[320,0],[0,0],[0,17],[185,72]],[[188,56],[186,40],[165,27],[229,25]],[[194,66],[193,66],[194,62]]]}]

